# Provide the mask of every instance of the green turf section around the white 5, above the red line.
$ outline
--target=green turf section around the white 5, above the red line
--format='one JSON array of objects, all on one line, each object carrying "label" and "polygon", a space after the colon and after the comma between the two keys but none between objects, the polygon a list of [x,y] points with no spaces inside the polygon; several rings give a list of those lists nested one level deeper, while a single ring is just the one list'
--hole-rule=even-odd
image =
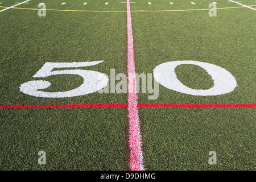
[{"label": "green turf section around the white 5, above the red line", "polygon": [[[31,1],[26,7],[37,8],[38,2]],[[57,5],[63,8],[65,5],[60,5],[59,2],[45,3],[49,9],[55,9]],[[75,5],[78,6],[78,3],[76,2]],[[97,1],[96,5],[97,3],[99,2]],[[18,7],[22,6],[25,5]],[[117,7],[119,6],[117,4]],[[68,6],[65,8],[68,9]],[[92,67],[59,68],[54,71],[85,69],[105,73],[109,77],[110,69],[115,69],[116,74],[126,73],[125,13],[47,11],[46,17],[39,17],[35,10],[11,9],[3,11],[0,20],[2,104],[125,104],[125,94],[109,93],[106,97],[105,94],[96,92],[79,97],[52,99],[31,97],[19,91],[21,84],[32,80],[51,82],[52,85],[45,89],[45,92],[67,91],[81,85],[82,78],[77,75],[33,78],[32,76],[46,62],[103,60],[103,63]]]}]

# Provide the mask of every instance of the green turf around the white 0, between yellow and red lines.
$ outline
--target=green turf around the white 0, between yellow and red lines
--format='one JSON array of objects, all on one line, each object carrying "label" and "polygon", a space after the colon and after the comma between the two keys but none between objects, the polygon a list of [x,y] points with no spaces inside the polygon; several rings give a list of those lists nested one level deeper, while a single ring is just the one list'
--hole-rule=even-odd
[{"label": "green turf around the white 0, between yellow and red lines", "polygon": [[[253,40],[256,15],[253,10],[217,10],[216,17],[210,17],[208,11],[134,12],[132,15],[136,68],[139,74],[152,73],[157,65],[168,61],[193,60],[226,69],[236,78],[238,85],[231,93],[207,97],[183,94],[159,85],[157,100],[148,100],[148,94],[139,94],[139,102],[255,103],[256,51]],[[177,77],[184,85],[194,89],[209,89],[212,79],[202,72],[205,72],[204,69],[192,65],[180,65],[176,69]],[[195,78],[188,84],[192,76]],[[197,81],[194,83],[195,79]]]}]

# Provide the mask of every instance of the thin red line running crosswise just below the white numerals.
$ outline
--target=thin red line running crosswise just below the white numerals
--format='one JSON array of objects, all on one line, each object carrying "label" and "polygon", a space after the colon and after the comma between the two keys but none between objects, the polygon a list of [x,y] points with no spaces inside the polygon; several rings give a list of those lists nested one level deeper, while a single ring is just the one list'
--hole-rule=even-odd
[{"label": "thin red line running crosswise just below the white numerals", "polygon": [[[51,108],[84,108],[84,107],[128,107],[127,104],[64,104],[64,105],[0,105],[0,109],[51,109]],[[138,104],[138,107],[256,107],[256,104]]]}]

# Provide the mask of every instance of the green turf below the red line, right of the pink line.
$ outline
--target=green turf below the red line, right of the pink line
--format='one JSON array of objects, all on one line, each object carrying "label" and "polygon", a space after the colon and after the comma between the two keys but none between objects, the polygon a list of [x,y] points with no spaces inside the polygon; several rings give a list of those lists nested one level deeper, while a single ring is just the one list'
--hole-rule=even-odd
[{"label": "green turf below the red line, right of the pink line", "polygon": [[[254,170],[255,109],[141,108],[147,170]],[[217,164],[208,155],[215,151]]]}]

